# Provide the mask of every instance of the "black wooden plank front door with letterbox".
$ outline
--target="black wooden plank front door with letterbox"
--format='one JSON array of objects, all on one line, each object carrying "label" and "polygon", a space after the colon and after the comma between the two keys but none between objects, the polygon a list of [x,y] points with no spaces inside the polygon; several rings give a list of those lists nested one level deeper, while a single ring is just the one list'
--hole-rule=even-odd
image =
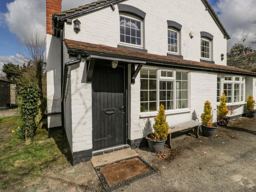
[{"label": "black wooden plank front door with letterbox", "polygon": [[124,67],[95,64],[92,89],[93,149],[124,144]]}]

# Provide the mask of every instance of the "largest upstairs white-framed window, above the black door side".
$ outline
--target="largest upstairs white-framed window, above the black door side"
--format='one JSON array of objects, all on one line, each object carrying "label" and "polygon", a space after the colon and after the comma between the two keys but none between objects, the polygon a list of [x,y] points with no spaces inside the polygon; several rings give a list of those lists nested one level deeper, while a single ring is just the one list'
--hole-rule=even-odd
[{"label": "largest upstairs white-framed window, above the black door side", "polygon": [[142,20],[120,15],[120,43],[142,47]]}]

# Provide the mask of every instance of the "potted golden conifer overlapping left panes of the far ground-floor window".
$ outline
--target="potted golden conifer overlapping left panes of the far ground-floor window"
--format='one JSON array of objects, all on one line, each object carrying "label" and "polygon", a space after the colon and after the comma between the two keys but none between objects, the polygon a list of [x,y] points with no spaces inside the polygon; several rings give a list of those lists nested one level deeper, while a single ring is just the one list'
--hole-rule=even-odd
[{"label": "potted golden conifer overlapping left panes of the far ground-floor window", "polygon": [[235,112],[231,111],[231,107],[227,108],[226,106],[226,95],[223,92],[221,97],[219,98],[220,103],[217,106],[217,124],[219,126],[227,126],[229,123],[230,117],[227,115],[235,114]]}]

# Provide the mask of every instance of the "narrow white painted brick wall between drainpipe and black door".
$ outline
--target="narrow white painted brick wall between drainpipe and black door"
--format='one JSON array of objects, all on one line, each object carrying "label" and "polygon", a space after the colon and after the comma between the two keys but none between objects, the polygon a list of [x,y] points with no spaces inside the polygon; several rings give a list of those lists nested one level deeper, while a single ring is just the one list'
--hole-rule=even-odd
[{"label": "narrow white painted brick wall between drainpipe and black door", "polygon": [[[76,58],[71,58],[76,60]],[[91,84],[86,83],[86,61],[71,67],[72,151],[91,149]]]}]

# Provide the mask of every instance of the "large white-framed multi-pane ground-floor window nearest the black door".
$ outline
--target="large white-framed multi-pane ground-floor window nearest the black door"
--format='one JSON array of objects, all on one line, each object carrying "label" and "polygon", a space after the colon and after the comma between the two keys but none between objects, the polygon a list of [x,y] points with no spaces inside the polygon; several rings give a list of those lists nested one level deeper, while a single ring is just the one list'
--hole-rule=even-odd
[{"label": "large white-framed multi-pane ground-floor window nearest the black door", "polygon": [[188,76],[188,71],[143,67],[140,70],[140,112],[157,112],[161,104],[166,112],[189,110]]}]

